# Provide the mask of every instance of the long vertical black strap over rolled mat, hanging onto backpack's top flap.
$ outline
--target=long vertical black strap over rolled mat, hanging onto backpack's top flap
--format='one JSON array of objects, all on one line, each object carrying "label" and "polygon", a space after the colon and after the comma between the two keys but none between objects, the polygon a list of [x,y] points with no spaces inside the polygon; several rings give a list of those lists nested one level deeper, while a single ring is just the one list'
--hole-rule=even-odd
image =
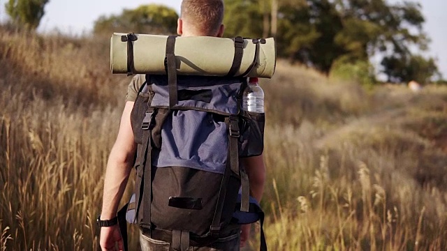
[{"label": "long vertical black strap over rolled mat, hanging onto backpack's top flap", "polygon": [[169,109],[177,105],[177,67],[175,65],[175,38],[166,41],[166,73],[168,73]]}]

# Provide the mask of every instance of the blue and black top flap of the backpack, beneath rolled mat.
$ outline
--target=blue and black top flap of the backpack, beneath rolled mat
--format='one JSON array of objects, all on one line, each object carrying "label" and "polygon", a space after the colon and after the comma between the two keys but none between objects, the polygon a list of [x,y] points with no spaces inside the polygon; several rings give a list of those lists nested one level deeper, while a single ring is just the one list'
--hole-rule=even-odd
[{"label": "blue and black top flap of the backpack, beneath rolled mat", "polygon": [[[175,109],[196,109],[231,115],[239,112],[237,98],[243,79],[235,77],[177,76]],[[154,98],[152,107],[169,107],[168,77],[150,75]]]}]

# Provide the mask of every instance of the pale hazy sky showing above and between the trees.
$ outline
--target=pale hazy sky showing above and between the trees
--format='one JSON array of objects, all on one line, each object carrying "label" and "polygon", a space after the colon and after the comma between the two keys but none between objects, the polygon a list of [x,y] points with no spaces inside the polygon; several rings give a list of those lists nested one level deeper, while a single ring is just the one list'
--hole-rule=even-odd
[{"label": "pale hazy sky showing above and between the trees", "polygon": [[[0,0],[0,21],[6,19],[4,5],[8,0]],[[389,3],[401,0],[387,0]],[[101,15],[119,14],[124,8],[133,9],[142,4],[161,3],[180,10],[182,0],[50,0],[45,6],[45,15],[38,31],[54,31],[79,35],[89,33],[94,21]],[[430,51],[425,56],[437,59],[439,70],[447,79],[447,10],[446,0],[419,0],[425,16],[424,31],[431,38]]]}]

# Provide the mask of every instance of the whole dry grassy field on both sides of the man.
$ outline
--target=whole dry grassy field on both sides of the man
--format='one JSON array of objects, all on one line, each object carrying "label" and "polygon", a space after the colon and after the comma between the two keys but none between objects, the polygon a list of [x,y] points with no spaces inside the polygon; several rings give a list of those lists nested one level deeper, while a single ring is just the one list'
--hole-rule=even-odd
[{"label": "whole dry grassy field on both sides of the man", "polygon": [[[98,250],[129,77],[107,38],[0,32],[0,250]],[[447,86],[362,89],[283,61],[261,84],[270,250],[447,250]]]}]

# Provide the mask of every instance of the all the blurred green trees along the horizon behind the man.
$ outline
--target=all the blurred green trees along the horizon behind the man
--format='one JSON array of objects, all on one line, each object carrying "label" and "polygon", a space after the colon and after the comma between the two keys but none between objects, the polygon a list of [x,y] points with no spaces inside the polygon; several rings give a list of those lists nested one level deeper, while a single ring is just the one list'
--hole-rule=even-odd
[{"label": "all the blurred green trees along the horizon behind the man", "polygon": [[[6,11],[16,24],[38,26],[48,0],[9,0]],[[279,57],[316,68],[327,75],[376,82],[430,82],[441,78],[426,52],[420,3],[385,0],[224,0],[227,37],[274,37]],[[94,33],[172,34],[178,15],[158,4],[99,17]],[[372,57],[381,59],[372,66]],[[374,69],[377,68],[377,69]]]}]

